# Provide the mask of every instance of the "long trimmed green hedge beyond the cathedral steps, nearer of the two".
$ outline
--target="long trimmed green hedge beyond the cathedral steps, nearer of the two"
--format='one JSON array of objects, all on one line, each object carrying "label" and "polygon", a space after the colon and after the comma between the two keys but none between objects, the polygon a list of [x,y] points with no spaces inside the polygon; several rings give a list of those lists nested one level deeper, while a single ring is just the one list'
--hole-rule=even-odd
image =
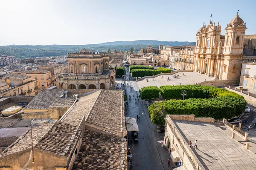
[{"label": "long trimmed green hedge beyond the cathedral steps, nearer of the two", "polygon": [[132,69],[131,77],[144,77],[144,76],[152,76],[158,75],[160,73],[170,73],[171,70],[157,70],[157,69]]}]

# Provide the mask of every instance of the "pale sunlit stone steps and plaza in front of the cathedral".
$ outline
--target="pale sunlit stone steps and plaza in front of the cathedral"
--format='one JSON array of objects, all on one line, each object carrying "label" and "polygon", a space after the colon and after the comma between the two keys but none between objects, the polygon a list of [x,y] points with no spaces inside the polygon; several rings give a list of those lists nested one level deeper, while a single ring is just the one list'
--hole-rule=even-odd
[{"label": "pale sunlit stone steps and plaza in front of the cathedral", "polygon": [[[179,78],[173,78],[173,75],[163,75],[163,78],[161,79],[160,76],[155,77],[154,80],[152,78],[148,78],[148,82],[146,79],[142,81],[137,81],[137,84],[140,88],[146,87],[146,86],[164,86],[164,85],[188,85],[188,84],[195,84],[195,83],[201,83],[205,81],[213,81],[215,80],[214,77],[208,77],[206,75],[201,75],[198,72],[178,72],[174,75],[179,75]],[[167,81],[167,78],[169,77],[169,81]]]}]

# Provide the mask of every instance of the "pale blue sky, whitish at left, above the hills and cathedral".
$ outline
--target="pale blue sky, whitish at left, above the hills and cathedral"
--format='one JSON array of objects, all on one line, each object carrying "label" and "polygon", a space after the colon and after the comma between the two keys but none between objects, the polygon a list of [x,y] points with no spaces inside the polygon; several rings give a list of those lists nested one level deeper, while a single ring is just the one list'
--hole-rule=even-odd
[{"label": "pale blue sky, whitish at left, above the hills and cathedral", "polygon": [[255,0],[1,0],[0,45],[195,41],[212,14],[222,32],[239,9],[256,33]]}]

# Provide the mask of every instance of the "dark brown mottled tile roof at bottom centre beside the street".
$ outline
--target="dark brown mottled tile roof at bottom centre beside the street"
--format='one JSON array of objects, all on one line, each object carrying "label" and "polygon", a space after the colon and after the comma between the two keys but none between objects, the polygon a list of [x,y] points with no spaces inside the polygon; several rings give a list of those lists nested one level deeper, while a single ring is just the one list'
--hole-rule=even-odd
[{"label": "dark brown mottled tile roof at bottom centre beside the street", "polygon": [[72,170],[127,170],[123,138],[85,130]]}]

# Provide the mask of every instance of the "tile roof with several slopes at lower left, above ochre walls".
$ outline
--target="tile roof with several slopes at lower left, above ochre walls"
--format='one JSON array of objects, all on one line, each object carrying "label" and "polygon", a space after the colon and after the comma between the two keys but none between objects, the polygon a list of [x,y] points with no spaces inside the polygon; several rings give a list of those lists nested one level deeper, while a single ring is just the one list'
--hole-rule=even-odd
[{"label": "tile roof with several slopes at lower left, above ochre walls", "polygon": [[[65,124],[60,121],[54,121],[40,127],[32,128],[33,146],[41,150],[56,153],[61,156],[69,156],[78,140],[81,129]],[[6,150],[0,153],[6,156],[17,153],[32,147],[30,129],[12,143]]]}]

